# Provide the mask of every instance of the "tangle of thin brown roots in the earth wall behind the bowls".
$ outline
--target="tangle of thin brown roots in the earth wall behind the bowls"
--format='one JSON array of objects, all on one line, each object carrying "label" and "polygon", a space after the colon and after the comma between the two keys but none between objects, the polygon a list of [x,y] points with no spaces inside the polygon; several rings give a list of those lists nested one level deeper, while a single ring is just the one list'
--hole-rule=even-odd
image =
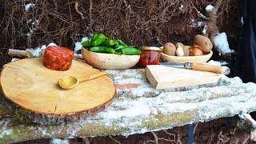
[{"label": "tangle of thin brown roots in the earth wall behind the bowls", "polygon": [[[215,2],[215,1],[214,1]],[[5,1],[4,34],[10,37],[10,48],[25,49],[47,42],[74,48],[74,42],[91,33],[121,38],[134,46],[162,46],[165,42],[191,44],[201,33],[195,22],[206,22],[204,8],[208,0],[63,0]],[[30,8],[26,6],[31,3]],[[238,11],[238,2],[223,1],[218,23]],[[198,13],[200,12],[200,13]]]}]

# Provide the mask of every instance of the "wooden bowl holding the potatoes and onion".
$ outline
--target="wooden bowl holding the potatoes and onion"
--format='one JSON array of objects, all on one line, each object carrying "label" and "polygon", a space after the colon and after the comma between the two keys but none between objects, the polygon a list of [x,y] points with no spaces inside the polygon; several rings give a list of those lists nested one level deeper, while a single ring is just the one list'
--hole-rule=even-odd
[{"label": "wooden bowl holding the potatoes and onion", "polygon": [[210,54],[202,55],[202,56],[185,56],[185,57],[178,57],[178,56],[170,56],[167,54],[161,53],[160,58],[163,62],[198,62],[204,63],[207,62],[211,56],[213,55],[213,51],[210,50]]}]

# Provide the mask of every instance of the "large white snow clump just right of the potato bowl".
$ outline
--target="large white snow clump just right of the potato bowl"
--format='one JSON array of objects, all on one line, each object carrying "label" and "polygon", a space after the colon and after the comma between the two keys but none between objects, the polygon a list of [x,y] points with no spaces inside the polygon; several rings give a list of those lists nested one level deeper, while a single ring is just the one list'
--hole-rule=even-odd
[{"label": "large white snow clump just right of the potato bowl", "polygon": [[230,46],[226,38],[226,33],[224,32],[217,34],[214,37],[214,45],[218,47],[218,50],[220,50],[222,54],[234,53],[234,50],[230,50]]}]

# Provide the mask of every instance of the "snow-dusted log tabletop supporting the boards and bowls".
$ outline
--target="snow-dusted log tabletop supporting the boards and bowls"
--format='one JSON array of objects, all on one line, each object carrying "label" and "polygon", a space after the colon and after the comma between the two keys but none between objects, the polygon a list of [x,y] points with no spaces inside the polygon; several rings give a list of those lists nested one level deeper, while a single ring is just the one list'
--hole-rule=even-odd
[{"label": "snow-dusted log tabletop supporting the boards and bowls", "polygon": [[256,110],[256,85],[240,78],[222,76],[215,84],[154,90],[144,73],[143,69],[110,70],[117,86],[114,102],[102,112],[65,125],[17,123],[15,118],[22,121],[22,113],[11,102],[1,101],[0,106],[13,115],[0,116],[0,142],[142,134]]}]

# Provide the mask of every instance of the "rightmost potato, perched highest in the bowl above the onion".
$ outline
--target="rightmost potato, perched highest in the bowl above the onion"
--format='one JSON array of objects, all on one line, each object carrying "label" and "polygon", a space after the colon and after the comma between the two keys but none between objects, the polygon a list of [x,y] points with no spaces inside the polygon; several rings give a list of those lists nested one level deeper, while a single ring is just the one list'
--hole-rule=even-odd
[{"label": "rightmost potato, perched highest in the bowl above the onion", "polygon": [[200,34],[194,36],[194,44],[200,46],[204,54],[210,53],[210,50],[213,48],[213,43],[210,42],[210,38]]}]

